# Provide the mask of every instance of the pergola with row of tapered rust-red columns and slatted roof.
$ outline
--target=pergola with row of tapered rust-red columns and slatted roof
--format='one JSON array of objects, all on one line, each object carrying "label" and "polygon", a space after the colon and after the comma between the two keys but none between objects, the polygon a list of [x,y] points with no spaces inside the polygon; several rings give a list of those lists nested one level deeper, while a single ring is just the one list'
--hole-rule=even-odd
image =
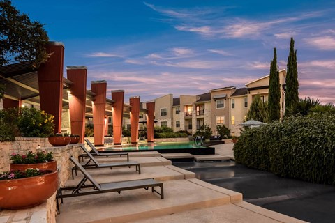
[{"label": "pergola with row of tapered rust-red columns and slatted roof", "polygon": [[[138,142],[140,112],[147,113],[147,139],[154,140],[154,102],[147,103],[147,109],[140,109],[140,97],[130,98],[130,105],[124,104],[124,91],[112,91],[112,100],[107,96],[107,82],[91,82],[87,91],[87,67],[67,66],[64,70],[64,45],[50,42],[45,46],[50,58],[35,68],[31,61],[0,67],[0,84],[6,86],[3,109],[21,107],[22,102],[40,106],[54,116],[54,132],[61,132],[62,109],[70,111],[72,134],[80,135],[84,142],[85,117],[94,121],[94,144],[103,146],[107,133],[106,117],[113,118],[114,144],[121,144],[122,119],[131,118],[131,142]],[[152,120],[151,120],[152,119]],[[152,123],[152,126],[151,126]]]}]

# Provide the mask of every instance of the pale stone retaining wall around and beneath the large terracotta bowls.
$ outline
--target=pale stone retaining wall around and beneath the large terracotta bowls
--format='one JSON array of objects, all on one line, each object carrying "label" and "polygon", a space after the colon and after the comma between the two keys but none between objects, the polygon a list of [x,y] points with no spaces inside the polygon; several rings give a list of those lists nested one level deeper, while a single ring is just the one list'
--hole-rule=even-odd
[{"label": "pale stone retaining wall around and beneath the large terracotta bowls", "polygon": [[[0,171],[9,169],[10,155],[12,153],[27,153],[27,151],[36,152],[38,150],[52,151],[54,159],[57,161],[59,186],[64,186],[66,181],[71,178],[71,169],[73,164],[70,162],[70,156],[76,159],[82,153],[80,144],[68,146],[51,146],[47,138],[16,138],[16,141],[0,143]],[[10,222],[56,222],[56,192],[50,199],[40,206],[26,208],[22,210],[0,210],[0,220],[6,223]],[[0,222],[1,222],[0,221]]]}]

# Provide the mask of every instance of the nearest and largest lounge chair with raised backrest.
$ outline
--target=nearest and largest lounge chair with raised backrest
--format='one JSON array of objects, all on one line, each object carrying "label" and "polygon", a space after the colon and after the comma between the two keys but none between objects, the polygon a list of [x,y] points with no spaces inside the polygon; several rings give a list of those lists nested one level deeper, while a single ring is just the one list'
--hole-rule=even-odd
[{"label": "nearest and largest lounge chair with raised backrest", "polygon": [[[144,188],[148,190],[151,187],[151,192],[156,192],[161,195],[161,199],[164,199],[163,183],[157,182],[154,178],[142,179],[142,180],[128,180],[121,182],[112,183],[97,183],[94,178],[82,167],[82,165],[75,160],[74,157],[70,157],[71,162],[75,164],[75,167],[79,169],[84,178],[75,187],[60,187],[57,191],[57,210],[59,212],[59,199],[63,203],[63,199],[66,197],[77,197],[89,194],[101,194],[106,192],[118,192],[119,194],[123,190],[134,190]],[[89,180],[91,185],[85,185],[86,181]],[[161,191],[155,190],[155,187],[161,187]],[[68,192],[66,192],[68,191]],[[70,192],[72,191],[72,192]],[[64,193],[63,193],[64,192]]]}]

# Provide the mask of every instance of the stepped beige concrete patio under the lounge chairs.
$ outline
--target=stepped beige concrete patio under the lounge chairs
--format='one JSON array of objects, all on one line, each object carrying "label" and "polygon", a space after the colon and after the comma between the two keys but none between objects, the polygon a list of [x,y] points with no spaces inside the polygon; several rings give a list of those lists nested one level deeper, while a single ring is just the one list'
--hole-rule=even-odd
[{"label": "stepped beige concrete patio under the lounge chairs", "polygon": [[[232,145],[216,146],[218,155],[232,156]],[[195,174],[172,166],[157,155],[131,153],[130,160],[141,163],[142,174],[135,169],[89,170],[98,181],[155,178],[164,183],[165,198],[151,190],[137,189],[64,199],[57,222],[303,222],[242,200],[242,194],[205,183]],[[121,158],[99,158],[99,162]],[[208,157],[207,157],[208,159]],[[67,185],[82,179],[78,173]]]}]

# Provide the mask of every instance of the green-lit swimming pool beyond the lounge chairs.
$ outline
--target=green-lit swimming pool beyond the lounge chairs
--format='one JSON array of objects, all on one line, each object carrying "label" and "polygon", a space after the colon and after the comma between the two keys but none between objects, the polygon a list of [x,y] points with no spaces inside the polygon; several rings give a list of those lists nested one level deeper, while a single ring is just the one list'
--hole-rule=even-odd
[{"label": "green-lit swimming pool beyond the lounge chairs", "polygon": [[191,153],[193,155],[215,154],[215,148],[201,146],[194,141],[146,144],[124,144],[105,148],[105,151],[158,151],[159,153]]}]

